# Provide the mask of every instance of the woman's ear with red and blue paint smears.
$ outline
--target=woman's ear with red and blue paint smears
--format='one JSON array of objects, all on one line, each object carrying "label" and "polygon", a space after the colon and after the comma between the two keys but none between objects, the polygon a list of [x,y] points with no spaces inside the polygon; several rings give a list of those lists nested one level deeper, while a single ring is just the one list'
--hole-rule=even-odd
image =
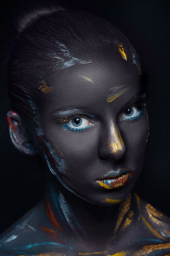
[{"label": "woman's ear with red and blue paint smears", "polygon": [[18,113],[9,111],[7,113],[7,122],[9,125],[10,138],[15,148],[26,155],[36,155],[37,151],[21,127],[20,116]]}]

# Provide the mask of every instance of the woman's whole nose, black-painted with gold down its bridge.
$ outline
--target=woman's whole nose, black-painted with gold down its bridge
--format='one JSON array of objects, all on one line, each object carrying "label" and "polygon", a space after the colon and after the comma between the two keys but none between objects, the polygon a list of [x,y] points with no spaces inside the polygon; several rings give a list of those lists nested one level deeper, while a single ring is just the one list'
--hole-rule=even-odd
[{"label": "woman's whole nose, black-painted with gold down its bridge", "polygon": [[126,146],[121,137],[117,124],[110,121],[108,128],[102,132],[100,138],[99,154],[103,159],[121,159],[126,153]]}]

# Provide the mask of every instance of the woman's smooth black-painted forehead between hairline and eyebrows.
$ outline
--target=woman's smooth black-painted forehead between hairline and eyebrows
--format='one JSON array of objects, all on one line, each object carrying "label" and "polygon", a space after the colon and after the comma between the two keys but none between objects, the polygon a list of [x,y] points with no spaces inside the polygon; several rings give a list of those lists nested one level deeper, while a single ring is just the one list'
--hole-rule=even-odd
[{"label": "woman's smooth black-painted forehead between hairline and eyebrows", "polygon": [[44,99],[55,99],[57,108],[62,105],[84,105],[94,99],[106,101],[110,94],[126,92],[125,88],[139,90],[140,75],[135,65],[117,54],[105,54],[92,59],[91,63],[75,64],[46,76],[49,93],[41,92]]}]

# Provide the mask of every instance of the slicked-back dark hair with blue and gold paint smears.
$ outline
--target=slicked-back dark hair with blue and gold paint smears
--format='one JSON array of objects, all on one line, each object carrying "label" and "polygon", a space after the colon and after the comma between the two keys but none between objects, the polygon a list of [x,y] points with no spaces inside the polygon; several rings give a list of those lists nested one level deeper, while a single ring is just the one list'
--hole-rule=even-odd
[{"label": "slicked-back dark hair with blue and gold paint smears", "polygon": [[9,58],[8,93],[28,133],[38,117],[38,94],[48,88],[44,81],[47,74],[75,63],[91,62],[89,52],[98,55],[108,48],[119,51],[139,68],[137,53],[124,34],[91,13],[44,9],[26,15],[26,22],[21,23]]}]

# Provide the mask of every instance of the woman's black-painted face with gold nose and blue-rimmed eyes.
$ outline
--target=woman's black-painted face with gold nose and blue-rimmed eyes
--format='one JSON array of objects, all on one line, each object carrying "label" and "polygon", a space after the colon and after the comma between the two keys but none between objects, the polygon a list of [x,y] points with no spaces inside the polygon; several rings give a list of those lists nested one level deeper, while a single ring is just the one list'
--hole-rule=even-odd
[{"label": "woman's black-painted face with gold nose and blue-rimmed eyes", "polygon": [[40,137],[51,172],[96,205],[124,200],[141,171],[148,136],[144,88],[135,65],[106,54],[43,80]]}]

